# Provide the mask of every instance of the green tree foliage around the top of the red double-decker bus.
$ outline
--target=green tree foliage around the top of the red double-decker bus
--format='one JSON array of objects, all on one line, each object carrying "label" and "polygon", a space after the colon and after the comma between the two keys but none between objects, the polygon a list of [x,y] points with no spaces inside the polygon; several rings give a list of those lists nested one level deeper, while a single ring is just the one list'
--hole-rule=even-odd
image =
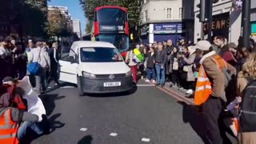
[{"label": "green tree foliage around the top of the red double-decker bus", "polygon": [[97,6],[122,6],[128,10],[130,27],[138,26],[139,1],[138,0],[79,0],[88,19],[86,32],[90,33],[94,20],[94,9]]}]

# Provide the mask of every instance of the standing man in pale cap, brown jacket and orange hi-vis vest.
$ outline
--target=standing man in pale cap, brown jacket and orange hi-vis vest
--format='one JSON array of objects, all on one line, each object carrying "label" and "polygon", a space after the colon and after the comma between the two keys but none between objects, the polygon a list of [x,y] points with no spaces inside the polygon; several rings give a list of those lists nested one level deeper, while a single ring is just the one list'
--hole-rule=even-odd
[{"label": "standing man in pale cap, brown jacket and orange hi-vis vest", "polygon": [[220,121],[222,102],[226,102],[225,88],[228,82],[223,68],[230,71],[235,69],[213,51],[210,42],[200,41],[195,49],[202,50],[203,57],[200,61],[194,104],[202,106],[209,143],[229,144],[230,139],[226,137],[224,126]]}]

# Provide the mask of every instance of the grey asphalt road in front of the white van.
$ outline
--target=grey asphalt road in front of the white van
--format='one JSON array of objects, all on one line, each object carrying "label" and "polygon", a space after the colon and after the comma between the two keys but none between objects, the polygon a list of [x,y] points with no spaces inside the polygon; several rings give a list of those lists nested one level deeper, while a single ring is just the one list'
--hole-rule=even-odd
[{"label": "grey asphalt road in front of the white van", "polygon": [[130,95],[90,97],[79,97],[75,87],[63,87],[42,100],[52,132],[34,139],[34,144],[203,143],[198,114],[154,86],[140,85]]}]

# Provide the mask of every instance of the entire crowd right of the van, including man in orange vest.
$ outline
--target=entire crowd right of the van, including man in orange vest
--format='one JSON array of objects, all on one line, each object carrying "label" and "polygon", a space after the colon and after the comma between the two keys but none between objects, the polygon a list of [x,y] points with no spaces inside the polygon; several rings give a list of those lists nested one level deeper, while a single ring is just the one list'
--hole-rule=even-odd
[{"label": "entire crowd right of the van, including man in orange vest", "polygon": [[134,82],[136,69],[143,73],[140,67],[145,67],[146,82],[161,87],[170,82],[170,87],[186,89],[202,110],[209,143],[232,143],[226,136],[226,131],[231,131],[238,143],[254,144],[256,45],[251,38],[250,46],[242,47],[241,39],[238,46],[221,35],[213,42],[198,39],[194,45],[181,38],[176,46],[172,40],[132,46],[126,60],[133,58],[134,49],[144,54],[144,62],[127,62]]}]

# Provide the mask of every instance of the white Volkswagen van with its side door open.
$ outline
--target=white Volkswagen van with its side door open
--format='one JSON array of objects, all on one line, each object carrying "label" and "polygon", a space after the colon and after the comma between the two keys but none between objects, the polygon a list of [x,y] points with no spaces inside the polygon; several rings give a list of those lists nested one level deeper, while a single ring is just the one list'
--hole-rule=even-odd
[{"label": "white Volkswagen van with its side door open", "polygon": [[130,91],[134,83],[130,67],[109,42],[74,42],[62,50],[60,80],[78,85],[79,94]]}]

